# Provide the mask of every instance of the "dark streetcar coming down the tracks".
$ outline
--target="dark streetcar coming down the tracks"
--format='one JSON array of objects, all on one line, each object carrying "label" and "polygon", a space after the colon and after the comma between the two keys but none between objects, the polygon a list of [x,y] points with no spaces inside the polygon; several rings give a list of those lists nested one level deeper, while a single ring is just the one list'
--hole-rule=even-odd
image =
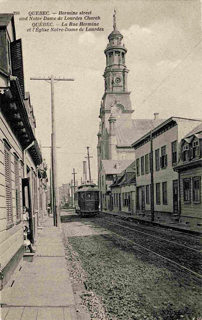
[{"label": "dark streetcar coming down the tracks", "polygon": [[75,212],[81,217],[99,212],[99,190],[94,183],[82,183],[74,193]]}]

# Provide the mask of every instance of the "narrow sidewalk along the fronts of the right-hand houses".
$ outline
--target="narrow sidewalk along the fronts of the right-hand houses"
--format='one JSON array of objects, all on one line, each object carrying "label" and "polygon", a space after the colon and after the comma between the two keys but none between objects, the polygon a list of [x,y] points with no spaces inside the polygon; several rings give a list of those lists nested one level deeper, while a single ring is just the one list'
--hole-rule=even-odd
[{"label": "narrow sidewalk along the fronts of the right-hand houses", "polygon": [[129,221],[147,224],[147,225],[155,225],[155,226],[166,228],[166,229],[172,229],[175,231],[202,236],[201,225],[189,225],[181,222],[172,222],[170,221],[170,219],[156,218],[156,217],[154,218],[154,222],[151,222],[150,215],[149,216],[141,216],[141,215],[134,215],[134,214],[130,215],[125,212],[115,212],[115,211],[99,211],[99,212],[104,214],[110,214],[123,220],[129,220]]}]

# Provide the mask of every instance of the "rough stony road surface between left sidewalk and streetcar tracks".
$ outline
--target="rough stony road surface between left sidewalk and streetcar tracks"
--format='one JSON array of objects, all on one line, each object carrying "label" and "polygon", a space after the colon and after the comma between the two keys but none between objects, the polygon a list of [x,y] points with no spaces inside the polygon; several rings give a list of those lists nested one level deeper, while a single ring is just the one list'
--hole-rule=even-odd
[{"label": "rough stony road surface between left sidewalk and streetcar tracks", "polygon": [[200,278],[95,226],[95,219],[61,214],[70,278],[84,283],[81,303],[91,318],[192,320],[200,316]]}]

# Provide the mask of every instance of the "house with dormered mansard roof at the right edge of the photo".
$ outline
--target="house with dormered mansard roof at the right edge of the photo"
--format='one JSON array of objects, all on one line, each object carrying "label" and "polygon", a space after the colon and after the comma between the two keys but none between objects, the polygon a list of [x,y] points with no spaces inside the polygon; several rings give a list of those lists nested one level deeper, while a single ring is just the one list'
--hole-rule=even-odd
[{"label": "house with dormered mansard roof at the right edge of the photo", "polygon": [[180,221],[202,225],[202,124],[181,139],[180,155],[174,166],[179,175]]}]

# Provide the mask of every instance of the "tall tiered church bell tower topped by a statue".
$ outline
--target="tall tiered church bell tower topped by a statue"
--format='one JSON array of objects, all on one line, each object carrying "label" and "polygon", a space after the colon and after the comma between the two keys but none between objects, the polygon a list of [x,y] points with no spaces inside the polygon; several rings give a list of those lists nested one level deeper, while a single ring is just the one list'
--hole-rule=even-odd
[{"label": "tall tiered church bell tower topped by a statue", "polygon": [[[104,50],[106,56],[106,67],[104,69],[104,94],[101,100],[99,118],[100,129],[98,132],[97,156],[98,164],[101,159],[115,158],[114,152],[109,150],[109,124],[111,106],[113,116],[116,119],[116,128],[126,119],[131,119],[133,112],[131,101],[127,90],[127,74],[125,55],[127,49],[123,42],[123,35],[116,27],[116,9],[113,14],[113,30],[108,35],[108,43]],[[113,135],[115,135],[115,130]]]}]

